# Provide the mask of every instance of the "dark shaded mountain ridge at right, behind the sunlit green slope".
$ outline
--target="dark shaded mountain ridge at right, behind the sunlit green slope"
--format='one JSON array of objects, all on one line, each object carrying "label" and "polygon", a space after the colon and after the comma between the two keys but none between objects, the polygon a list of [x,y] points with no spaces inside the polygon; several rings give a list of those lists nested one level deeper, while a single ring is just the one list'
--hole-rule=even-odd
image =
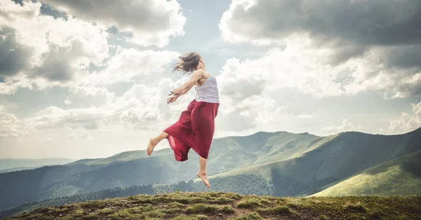
[{"label": "dark shaded mountain ridge at right, behind the sunlit green slope", "polygon": [[[404,135],[369,135],[342,132],[316,139],[299,156],[249,167],[213,177],[262,174],[273,184],[274,195],[311,195],[335,181],[369,167],[421,150],[421,128]],[[419,177],[415,181],[420,182]],[[407,189],[409,191],[409,188]]]}]

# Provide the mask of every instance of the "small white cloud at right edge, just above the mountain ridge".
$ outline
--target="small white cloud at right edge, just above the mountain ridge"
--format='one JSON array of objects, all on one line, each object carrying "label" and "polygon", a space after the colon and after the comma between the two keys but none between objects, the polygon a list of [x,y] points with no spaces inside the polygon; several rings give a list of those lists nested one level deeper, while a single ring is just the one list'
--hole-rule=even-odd
[{"label": "small white cloud at right edge, just above the mountain ridge", "polygon": [[392,120],[389,128],[380,129],[387,134],[403,134],[421,128],[421,102],[411,104],[413,112],[411,114],[402,113],[401,117]]}]

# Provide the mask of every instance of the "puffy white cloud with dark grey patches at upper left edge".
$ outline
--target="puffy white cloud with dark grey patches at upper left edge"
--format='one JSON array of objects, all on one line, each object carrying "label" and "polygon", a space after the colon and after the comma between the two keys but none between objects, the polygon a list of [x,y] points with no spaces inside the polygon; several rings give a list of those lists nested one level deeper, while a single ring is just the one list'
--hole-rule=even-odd
[{"label": "puffy white cloud with dark grey patches at upper left edge", "polygon": [[107,32],[91,22],[43,15],[33,1],[1,1],[0,11],[2,93],[71,85],[108,56]]}]

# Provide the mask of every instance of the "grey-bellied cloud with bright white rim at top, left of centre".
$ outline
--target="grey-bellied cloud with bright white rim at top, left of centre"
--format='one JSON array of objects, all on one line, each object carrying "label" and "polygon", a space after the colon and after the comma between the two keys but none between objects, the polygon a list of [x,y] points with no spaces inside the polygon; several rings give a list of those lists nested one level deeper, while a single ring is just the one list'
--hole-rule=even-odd
[{"label": "grey-bellied cloud with bright white rim at top, left of centre", "polygon": [[184,35],[186,18],[177,1],[166,0],[41,0],[68,15],[117,27],[132,35],[131,41],[141,46],[166,46],[171,36]]}]

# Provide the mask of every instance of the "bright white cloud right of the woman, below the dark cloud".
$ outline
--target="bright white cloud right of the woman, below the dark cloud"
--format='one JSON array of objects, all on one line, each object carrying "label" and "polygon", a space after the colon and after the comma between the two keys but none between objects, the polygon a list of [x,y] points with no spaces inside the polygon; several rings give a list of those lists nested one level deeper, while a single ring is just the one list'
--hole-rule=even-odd
[{"label": "bright white cloud right of the woman, below the dark cloud", "polygon": [[286,48],[271,49],[255,60],[228,60],[220,75],[222,95],[243,99],[281,88],[298,89],[315,97],[374,90],[391,98],[419,92],[421,71],[385,69],[377,62],[383,50],[333,66],[326,62],[331,50],[313,47],[305,36],[286,42]]}]

